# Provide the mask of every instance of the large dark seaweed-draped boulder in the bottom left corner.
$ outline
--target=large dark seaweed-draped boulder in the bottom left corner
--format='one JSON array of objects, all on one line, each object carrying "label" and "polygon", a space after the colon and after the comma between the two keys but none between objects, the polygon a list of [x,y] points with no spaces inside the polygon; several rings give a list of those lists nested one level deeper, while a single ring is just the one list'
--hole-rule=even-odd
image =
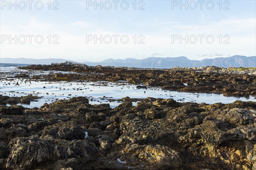
[{"label": "large dark seaweed-draped boulder in the bottom left corner", "polygon": [[98,156],[97,147],[82,140],[42,140],[38,136],[16,138],[9,143],[11,153],[7,159],[7,168],[26,170],[40,164],[51,167],[62,159],[75,158],[77,163],[86,164]]}]

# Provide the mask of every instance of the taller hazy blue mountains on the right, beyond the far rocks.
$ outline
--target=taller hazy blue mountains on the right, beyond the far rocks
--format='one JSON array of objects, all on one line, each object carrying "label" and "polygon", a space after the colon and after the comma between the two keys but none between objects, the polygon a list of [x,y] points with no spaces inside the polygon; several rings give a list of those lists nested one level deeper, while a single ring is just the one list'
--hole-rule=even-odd
[{"label": "taller hazy blue mountains on the right, beyond the far rocks", "polygon": [[187,57],[149,57],[146,59],[106,59],[101,62],[84,62],[87,65],[111,65],[139,68],[173,68],[180,67],[201,67],[214,65],[218,67],[256,67],[256,56],[232,56],[219,57],[214,59],[190,60]]}]

